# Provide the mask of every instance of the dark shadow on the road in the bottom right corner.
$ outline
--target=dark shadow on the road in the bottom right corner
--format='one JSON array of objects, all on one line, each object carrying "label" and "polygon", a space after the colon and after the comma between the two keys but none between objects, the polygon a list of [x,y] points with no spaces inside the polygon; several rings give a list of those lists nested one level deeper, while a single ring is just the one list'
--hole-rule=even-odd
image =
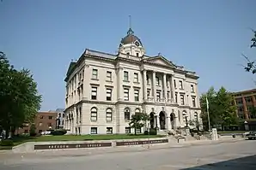
[{"label": "dark shadow on the road in the bottom right corner", "polygon": [[197,167],[182,168],[181,170],[255,170],[256,169],[256,155],[241,157],[229,161],[220,161],[216,163],[209,163]]}]

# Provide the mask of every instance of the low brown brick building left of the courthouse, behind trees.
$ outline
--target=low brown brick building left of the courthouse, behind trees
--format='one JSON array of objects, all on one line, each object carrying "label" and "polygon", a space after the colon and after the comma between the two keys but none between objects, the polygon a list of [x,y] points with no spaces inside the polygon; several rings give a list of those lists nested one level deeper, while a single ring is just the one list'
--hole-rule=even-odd
[{"label": "low brown brick building left of the courthouse, behind trees", "polygon": [[[49,130],[56,129],[56,118],[58,113],[49,111],[49,112],[38,112],[34,119],[34,124],[36,126],[36,132],[45,132]],[[16,131],[16,134],[29,133],[30,125],[27,123],[24,124],[22,128],[19,128]]]}]

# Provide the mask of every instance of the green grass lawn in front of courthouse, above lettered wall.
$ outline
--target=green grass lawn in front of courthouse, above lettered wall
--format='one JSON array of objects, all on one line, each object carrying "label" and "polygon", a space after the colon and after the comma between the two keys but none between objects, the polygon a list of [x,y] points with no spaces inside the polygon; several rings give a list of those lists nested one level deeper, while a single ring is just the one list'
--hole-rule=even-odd
[{"label": "green grass lawn in front of courthouse, above lettered wall", "polygon": [[[162,138],[162,135],[61,135],[61,136],[40,136],[40,137],[17,137],[13,138],[14,144],[26,142],[47,142],[47,141],[86,141],[86,140],[114,140],[114,139],[133,139],[133,138]],[[11,149],[10,146],[0,146],[1,149]]]}]

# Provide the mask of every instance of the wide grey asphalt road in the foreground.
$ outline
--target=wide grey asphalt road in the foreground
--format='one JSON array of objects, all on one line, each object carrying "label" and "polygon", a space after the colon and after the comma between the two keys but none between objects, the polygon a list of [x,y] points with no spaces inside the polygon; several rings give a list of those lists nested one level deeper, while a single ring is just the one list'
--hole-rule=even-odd
[{"label": "wide grey asphalt road in the foreground", "polygon": [[[26,156],[25,156],[26,157]],[[1,161],[0,161],[1,162]],[[256,169],[256,141],[204,144],[101,155],[33,155],[0,163],[1,170]]]}]

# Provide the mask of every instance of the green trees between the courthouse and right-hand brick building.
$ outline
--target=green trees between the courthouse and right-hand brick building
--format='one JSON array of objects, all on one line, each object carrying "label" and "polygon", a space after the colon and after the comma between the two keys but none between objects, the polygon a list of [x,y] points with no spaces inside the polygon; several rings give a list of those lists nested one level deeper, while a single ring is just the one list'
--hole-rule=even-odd
[{"label": "green trees between the courthouse and right-hand brick building", "polygon": [[237,125],[236,107],[231,103],[233,102],[232,94],[224,87],[219,91],[215,91],[213,87],[210,88],[205,94],[200,97],[202,108],[202,120],[204,128],[208,126],[208,114],[206,110],[206,97],[209,101],[209,117],[210,126],[231,126]]}]

